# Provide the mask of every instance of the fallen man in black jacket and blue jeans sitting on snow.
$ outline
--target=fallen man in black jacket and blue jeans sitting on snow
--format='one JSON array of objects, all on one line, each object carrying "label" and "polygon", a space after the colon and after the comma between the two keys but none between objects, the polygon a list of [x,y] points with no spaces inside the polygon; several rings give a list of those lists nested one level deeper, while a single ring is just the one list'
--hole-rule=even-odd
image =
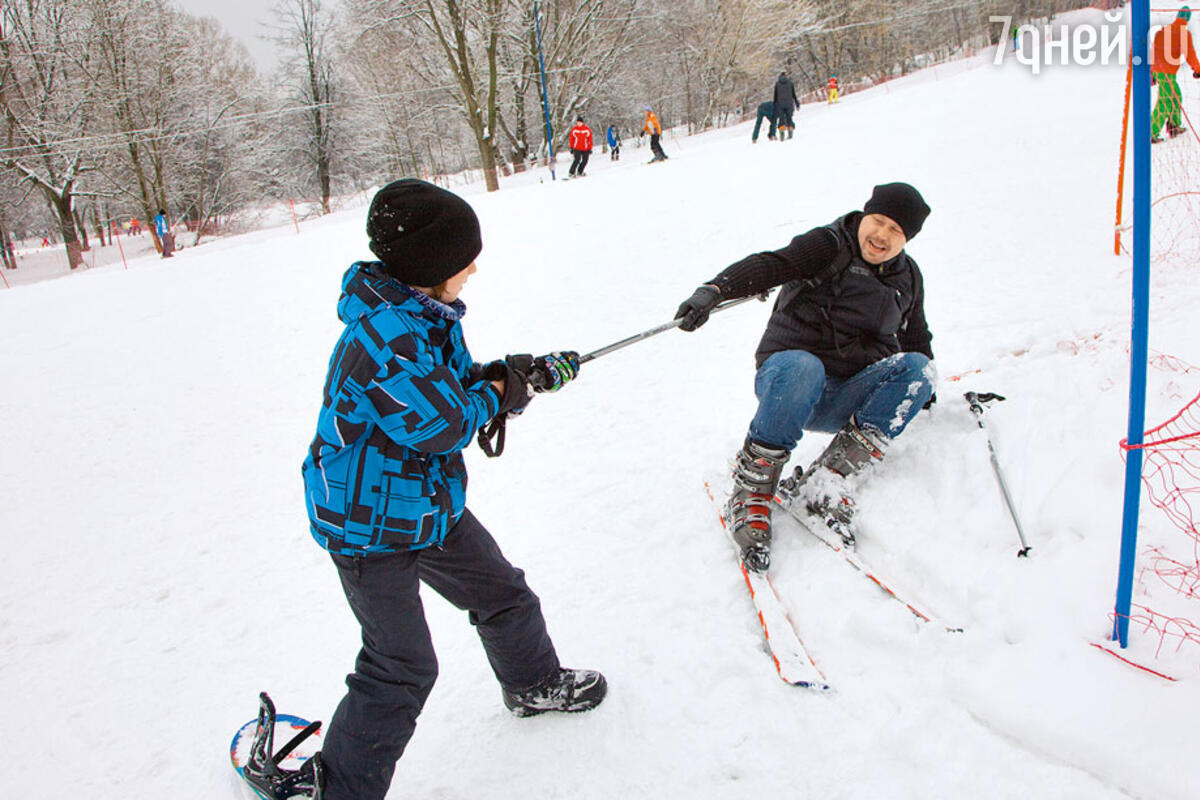
[{"label": "fallen man in black jacket and blue jeans sitting on snow", "polygon": [[[924,285],[905,245],[929,206],[907,184],[876,186],[862,211],[726,267],[679,306],[679,327],[720,302],[782,285],[755,354],[758,410],[738,452],[726,521],[748,569],[770,563],[770,500],[803,500],[853,545],[846,479],[883,457],[932,396]],[[835,432],[780,486],[804,431]]]}]

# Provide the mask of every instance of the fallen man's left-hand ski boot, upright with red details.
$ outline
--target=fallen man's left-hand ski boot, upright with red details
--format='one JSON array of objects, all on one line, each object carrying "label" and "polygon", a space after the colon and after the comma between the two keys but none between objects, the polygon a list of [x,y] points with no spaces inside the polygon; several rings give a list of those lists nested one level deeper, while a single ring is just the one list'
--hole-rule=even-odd
[{"label": "fallen man's left-hand ski boot, upright with red details", "polygon": [[733,494],[725,504],[725,524],[752,572],[770,566],[770,501],[791,453],[746,439],[734,456]]}]

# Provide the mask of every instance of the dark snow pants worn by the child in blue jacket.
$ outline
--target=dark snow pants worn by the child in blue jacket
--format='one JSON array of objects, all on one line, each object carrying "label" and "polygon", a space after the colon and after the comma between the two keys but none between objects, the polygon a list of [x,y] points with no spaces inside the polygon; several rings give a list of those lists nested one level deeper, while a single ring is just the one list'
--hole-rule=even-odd
[{"label": "dark snow pants worn by the child in blue jacket", "polygon": [[527,688],[559,668],[538,596],[469,510],[442,548],[332,559],[362,649],[322,747],[325,800],[383,800],[433,688],[438,662],[419,582],[469,612],[503,687]]}]

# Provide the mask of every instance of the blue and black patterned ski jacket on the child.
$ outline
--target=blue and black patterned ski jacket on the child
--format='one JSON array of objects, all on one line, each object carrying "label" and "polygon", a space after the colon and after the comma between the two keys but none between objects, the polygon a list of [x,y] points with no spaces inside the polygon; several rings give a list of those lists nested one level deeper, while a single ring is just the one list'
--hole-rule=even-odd
[{"label": "blue and black patterned ski jacket on the child", "polygon": [[462,515],[462,450],[500,398],[444,305],[358,261],[342,279],[317,435],[304,462],[313,539],[367,555],[440,545]]}]

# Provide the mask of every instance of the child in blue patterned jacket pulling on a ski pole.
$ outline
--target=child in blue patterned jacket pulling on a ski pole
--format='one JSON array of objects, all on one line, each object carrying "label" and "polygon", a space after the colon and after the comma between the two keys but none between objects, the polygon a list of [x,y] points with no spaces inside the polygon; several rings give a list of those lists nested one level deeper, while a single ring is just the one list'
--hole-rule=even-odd
[{"label": "child in blue patterned jacket pulling on a ski pole", "polygon": [[562,668],[538,596],[466,506],[462,451],[476,431],[524,409],[533,391],[560,389],[578,355],[472,360],[458,294],[482,245],[460,197],[390,184],[371,203],[367,234],[379,260],[343,279],[346,330],[302,470],[312,536],[362,626],[348,692],[305,766],[323,800],[388,793],[437,676],[419,582],[469,612],[515,715],[584,711],[606,692],[600,673]]}]

